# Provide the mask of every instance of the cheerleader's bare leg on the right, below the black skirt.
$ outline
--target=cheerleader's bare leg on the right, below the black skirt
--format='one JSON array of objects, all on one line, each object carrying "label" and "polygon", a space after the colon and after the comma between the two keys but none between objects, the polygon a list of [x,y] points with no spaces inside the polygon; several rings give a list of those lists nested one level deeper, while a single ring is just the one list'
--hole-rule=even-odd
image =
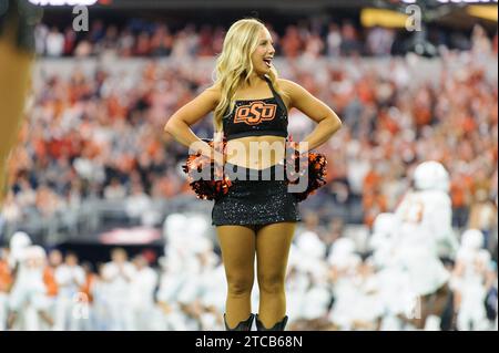
[{"label": "cheerleader's bare leg on the right, below the black skirt", "polygon": [[284,282],[295,226],[296,222],[271,224],[256,233],[258,319],[265,328],[273,328],[286,315]]}]

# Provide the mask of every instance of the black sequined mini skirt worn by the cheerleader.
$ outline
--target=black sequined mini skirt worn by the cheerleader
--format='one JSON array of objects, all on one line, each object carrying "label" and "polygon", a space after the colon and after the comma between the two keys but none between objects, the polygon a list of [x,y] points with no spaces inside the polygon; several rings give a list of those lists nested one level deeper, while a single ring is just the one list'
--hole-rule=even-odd
[{"label": "black sequined mini skirt worn by the cheerleader", "polygon": [[[301,221],[298,201],[288,193],[284,166],[252,169],[226,164],[232,174],[227,195],[214,201],[212,225],[257,226],[281,221]],[[241,178],[243,176],[243,178]]]}]

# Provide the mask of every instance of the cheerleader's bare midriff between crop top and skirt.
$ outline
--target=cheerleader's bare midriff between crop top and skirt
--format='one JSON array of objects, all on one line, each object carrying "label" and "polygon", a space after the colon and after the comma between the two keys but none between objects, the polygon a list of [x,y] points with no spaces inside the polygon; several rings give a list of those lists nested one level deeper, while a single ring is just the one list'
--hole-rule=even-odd
[{"label": "cheerleader's bare midriff between crop top and skirt", "polygon": [[252,169],[265,169],[285,156],[286,138],[282,136],[247,136],[227,141],[226,162]]}]

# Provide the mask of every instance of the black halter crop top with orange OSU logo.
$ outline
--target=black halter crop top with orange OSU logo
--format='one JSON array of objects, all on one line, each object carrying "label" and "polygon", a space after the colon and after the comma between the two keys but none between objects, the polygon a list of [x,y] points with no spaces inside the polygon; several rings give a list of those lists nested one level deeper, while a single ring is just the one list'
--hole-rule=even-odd
[{"label": "black halter crop top with orange OSU logo", "polygon": [[287,108],[268,77],[273,97],[263,100],[237,100],[234,110],[225,114],[223,128],[226,141],[245,136],[287,137]]}]

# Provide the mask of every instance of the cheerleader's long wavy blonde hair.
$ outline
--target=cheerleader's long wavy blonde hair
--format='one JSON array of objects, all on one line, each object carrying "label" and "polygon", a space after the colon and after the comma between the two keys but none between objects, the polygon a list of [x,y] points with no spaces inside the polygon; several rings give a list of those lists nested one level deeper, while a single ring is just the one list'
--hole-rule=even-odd
[{"label": "cheerleader's long wavy blonde hair", "polygon": [[[221,135],[222,120],[227,108],[234,108],[234,95],[243,83],[249,82],[253,73],[252,54],[258,46],[259,31],[265,25],[256,19],[234,22],[224,39],[222,53],[216,60],[215,85],[220,85],[221,100],[215,108],[214,132]],[[285,95],[277,84],[277,71],[272,68],[267,77],[275,91]]]}]

